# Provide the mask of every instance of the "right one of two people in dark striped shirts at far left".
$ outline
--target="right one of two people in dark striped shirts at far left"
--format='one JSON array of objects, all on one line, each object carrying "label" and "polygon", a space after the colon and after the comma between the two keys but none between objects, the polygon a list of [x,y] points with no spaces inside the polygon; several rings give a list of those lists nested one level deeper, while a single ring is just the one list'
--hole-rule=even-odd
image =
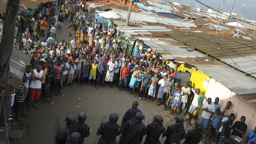
[{"label": "right one of two people in dark striped shirts at far left", "polygon": [[25,83],[27,82],[26,77],[23,77],[23,83],[20,85],[20,89],[16,92],[15,95],[15,112],[16,112],[16,119],[17,121],[21,121],[20,119],[20,110],[22,111],[21,116],[28,117],[29,115],[26,115],[24,113],[25,108],[25,94],[26,94],[26,86]]}]

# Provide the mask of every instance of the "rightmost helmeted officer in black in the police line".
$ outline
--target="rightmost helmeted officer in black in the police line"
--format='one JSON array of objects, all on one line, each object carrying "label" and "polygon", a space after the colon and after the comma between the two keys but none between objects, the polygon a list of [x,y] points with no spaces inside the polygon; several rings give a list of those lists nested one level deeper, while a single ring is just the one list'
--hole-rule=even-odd
[{"label": "rightmost helmeted officer in black in the police line", "polygon": [[203,121],[195,121],[195,129],[189,129],[188,133],[185,133],[185,142],[183,144],[197,144],[203,136]]}]

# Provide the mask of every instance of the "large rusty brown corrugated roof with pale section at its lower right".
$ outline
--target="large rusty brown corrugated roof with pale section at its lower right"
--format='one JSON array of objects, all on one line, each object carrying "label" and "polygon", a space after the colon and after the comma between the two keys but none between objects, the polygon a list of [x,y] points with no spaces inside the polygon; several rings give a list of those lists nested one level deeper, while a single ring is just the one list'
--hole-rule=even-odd
[{"label": "large rusty brown corrugated roof with pale section at its lower right", "polygon": [[191,32],[169,32],[167,35],[256,77],[256,43],[252,40]]}]

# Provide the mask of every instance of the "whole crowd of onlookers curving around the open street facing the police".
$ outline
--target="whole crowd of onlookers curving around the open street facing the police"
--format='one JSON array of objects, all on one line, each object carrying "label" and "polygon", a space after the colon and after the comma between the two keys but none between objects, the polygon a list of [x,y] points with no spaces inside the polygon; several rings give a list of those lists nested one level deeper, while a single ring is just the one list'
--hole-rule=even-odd
[{"label": "whole crowd of onlookers curving around the open street facing the police", "polygon": [[[191,81],[181,83],[176,79],[179,71],[176,71],[175,62],[163,60],[153,49],[143,49],[140,45],[133,48],[128,37],[119,37],[115,25],[103,28],[98,20],[81,13],[82,5],[84,3],[80,1],[63,1],[59,3],[59,14],[56,15],[56,5],[50,2],[34,15],[25,17],[19,13],[14,48],[30,55],[32,60],[26,66],[20,89],[14,91],[10,87],[5,92],[8,112],[13,93],[16,93],[17,120],[21,121],[20,111],[21,116],[28,116],[23,108],[25,100],[29,100],[29,110],[32,107],[38,109],[40,98],[53,104],[53,95],[60,96],[62,89],[74,84],[95,89],[109,86],[140,100],[164,105],[164,110],[170,109],[170,115],[188,115],[188,124],[191,124],[193,113],[203,105],[200,121],[203,122],[203,132],[207,132],[203,142],[209,142],[215,131],[218,131],[216,139],[220,142],[228,139],[229,126],[234,120],[230,101],[221,107],[219,98],[214,102],[208,98],[203,104],[205,98],[200,89],[193,88]],[[75,35],[71,41],[56,40],[56,27],[61,29],[64,22],[70,23],[69,36]],[[9,117],[10,113],[6,115]],[[230,122],[226,124],[226,121]],[[232,134],[242,137],[246,129],[245,117],[242,117],[233,124]]]}]

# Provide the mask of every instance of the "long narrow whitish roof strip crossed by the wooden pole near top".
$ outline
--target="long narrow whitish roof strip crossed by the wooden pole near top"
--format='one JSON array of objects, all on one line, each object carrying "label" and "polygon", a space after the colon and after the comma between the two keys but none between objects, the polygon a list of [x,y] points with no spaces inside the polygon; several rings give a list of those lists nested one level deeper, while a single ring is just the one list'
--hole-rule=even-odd
[{"label": "long narrow whitish roof strip crossed by the wooden pole near top", "polygon": [[[126,20],[127,13],[128,11],[125,10],[117,10],[113,9],[121,19]],[[134,23],[141,23],[141,22],[147,22],[147,23],[161,23],[164,25],[172,25],[172,26],[181,26],[181,27],[196,27],[194,23],[188,23],[188,22],[183,22],[181,20],[175,20],[167,17],[155,17],[155,16],[150,16],[142,13],[134,13],[131,12],[131,17],[130,17],[130,22]]]}]

